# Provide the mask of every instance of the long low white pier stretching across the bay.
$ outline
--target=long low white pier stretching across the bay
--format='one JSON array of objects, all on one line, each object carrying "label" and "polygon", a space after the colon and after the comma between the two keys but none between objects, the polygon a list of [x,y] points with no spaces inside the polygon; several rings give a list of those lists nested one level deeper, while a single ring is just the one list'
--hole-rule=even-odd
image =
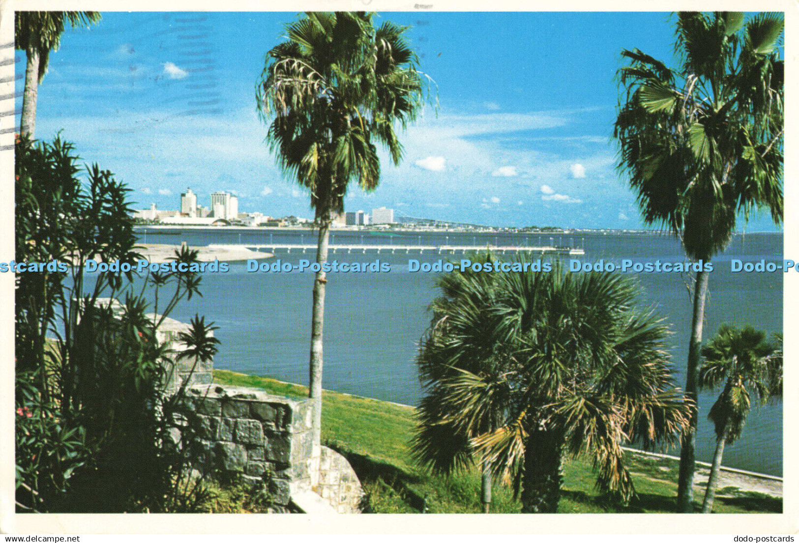
[{"label": "long low white pier stretching across the bay", "polygon": [[[266,250],[268,252],[316,252],[316,244],[215,244],[209,245],[209,248],[243,248],[252,251]],[[568,256],[582,256],[585,251],[578,248],[569,247],[527,247],[524,245],[377,245],[377,244],[345,244],[345,245],[328,245],[328,251],[332,254],[339,253],[361,253],[373,252],[380,254],[381,252],[390,253],[406,253],[406,254],[456,254],[467,252],[485,252],[491,251],[499,254],[508,252],[524,252],[528,254],[554,254],[554,255],[568,255]]]}]

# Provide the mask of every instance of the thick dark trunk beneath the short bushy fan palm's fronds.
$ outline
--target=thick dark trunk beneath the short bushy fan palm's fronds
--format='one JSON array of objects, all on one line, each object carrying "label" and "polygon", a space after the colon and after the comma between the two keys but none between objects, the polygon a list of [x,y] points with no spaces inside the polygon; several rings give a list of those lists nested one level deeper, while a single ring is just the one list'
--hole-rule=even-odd
[{"label": "thick dark trunk beneath the short bushy fan palm's fronds", "polygon": [[524,448],[522,513],[557,513],[560,501],[563,440],[558,433],[530,433]]}]

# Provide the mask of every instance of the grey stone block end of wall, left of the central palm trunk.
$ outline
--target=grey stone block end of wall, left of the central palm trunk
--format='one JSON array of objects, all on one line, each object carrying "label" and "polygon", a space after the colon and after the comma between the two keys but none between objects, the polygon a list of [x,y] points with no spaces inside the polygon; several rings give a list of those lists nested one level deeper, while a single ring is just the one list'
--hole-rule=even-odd
[{"label": "grey stone block end of wall, left of the central palm trunk", "polygon": [[187,396],[197,414],[197,440],[189,448],[198,470],[263,481],[279,505],[310,489],[311,400],[220,385],[191,386]]}]

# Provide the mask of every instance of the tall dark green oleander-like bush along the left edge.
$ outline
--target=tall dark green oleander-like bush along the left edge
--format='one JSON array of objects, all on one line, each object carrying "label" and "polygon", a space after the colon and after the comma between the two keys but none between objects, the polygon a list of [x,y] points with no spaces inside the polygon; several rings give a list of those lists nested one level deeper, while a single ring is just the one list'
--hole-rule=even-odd
[{"label": "tall dark green oleander-like bush along the left edge", "polygon": [[[129,188],[97,164],[81,180],[60,137],[18,139],[16,159],[16,261],[45,264],[16,275],[18,510],[192,510],[201,485],[176,442],[191,437],[191,418],[165,394],[171,359],[156,330],[199,292],[199,275],[89,275],[89,260],[141,259]],[[196,262],[197,252],[174,260]],[[197,317],[180,339],[213,356],[211,329]]]}]

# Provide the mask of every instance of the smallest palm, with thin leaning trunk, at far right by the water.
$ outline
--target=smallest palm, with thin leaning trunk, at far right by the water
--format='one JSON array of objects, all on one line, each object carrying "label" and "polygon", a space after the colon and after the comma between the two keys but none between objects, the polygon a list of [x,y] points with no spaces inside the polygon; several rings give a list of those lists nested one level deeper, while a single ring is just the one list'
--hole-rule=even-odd
[{"label": "smallest palm, with thin leaning trunk, at far right by the water", "polygon": [[702,503],[702,513],[710,513],[724,446],[741,436],[752,403],[750,390],[761,404],[774,395],[782,394],[781,335],[777,335],[777,346],[774,346],[766,342],[765,332],[756,331],[753,327],[738,329],[724,325],[714,339],[702,347],[702,358],[704,363],[699,370],[700,386],[718,388],[724,383],[721,394],[708,414],[716,427],[717,439],[705,501]]}]

